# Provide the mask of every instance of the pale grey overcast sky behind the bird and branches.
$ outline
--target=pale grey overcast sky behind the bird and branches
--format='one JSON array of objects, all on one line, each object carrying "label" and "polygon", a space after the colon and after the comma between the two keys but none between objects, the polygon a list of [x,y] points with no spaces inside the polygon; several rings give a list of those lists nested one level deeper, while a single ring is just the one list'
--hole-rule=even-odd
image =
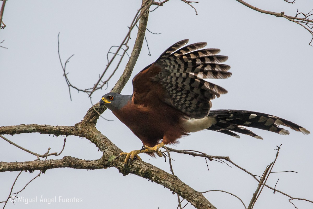
[{"label": "pale grey overcast sky behind the bird and branches", "polygon": [[[249,0],[254,6],[295,15],[297,9],[308,13],[311,0]],[[74,125],[81,121],[91,107],[85,93],[72,90],[72,102],[58,58],[57,35],[60,32],[60,53],[65,61],[70,55],[67,71],[72,84],[90,88],[107,64],[106,54],[112,45],[119,45],[126,35],[141,1],[7,1],[3,21],[7,27],[0,31],[0,126],[19,124]],[[312,122],[312,57],[311,35],[300,25],[251,10],[235,0],[205,1],[192,4],[195,11],[182,1],[172,0],[149,15],[146,33],[151,56],[144,43],[133,76],[154,62],[173,43],[190,39],[189,43],[208,42],[208,48],[221,49],[229,56],[233,76],[213,80],[228,90],[228,94],[213,100],[212,109],[241,109],[273,114],[297,123],[311,132]],[[154,7],[153,7],[154,8]],[[131,34],[130,46],[136,38]],[[129,50],[131,53],[131,49]],[[96,103],[110,91],[123,71],[124,59],[107,90],[93,94]],[[111,68],[112,71],[114,68]],[[107,75],[109,76],[109,74]],[[131,81],[131,80],[130,80]],[[131,82],[122,91],[131,94]],[[142,144],[110,111],[99,119],[97,128],[123,151],[139,149]],[[290,129],[288,129],[290,130]],[[312,146],[313,135],[290,130],[290,135],[253,129],[264,138],[241,138],[202,131],[180,140],[175,149],[193,149],[210,155],[229,156],[235,163],[255,175],[262,175],[274,159],[275,146],[282,144],[273,171],[293,170],[298,173],[271,174],[267,184],[276,186],[291,196],[313,200]],[[33,152],[59,152],[63,137],[44,134],[5,135],[9,140]],[[99,159],[101,152],[85,138],[69,136],[61,159],[70,155],[80,159]],[[170,172],[163,158],[144,161]],[[183,182],[197,191],[225,190],[248,206],[257,182],[235,167],[203,158],[172,153],[173,169]],[[0,140],[0,161],[31,161],[35,157],[4,140]],[[23,172],[13,192],[19,191],[33,174]],[[0,173],[0,201],[6,200],[18,172]],[[138,177],[121,175],[117,169],[47,170],[19,194],[24,198],[82,198],[82,203],[16,203],[6,208],[177,208],[177,196],[167,188]],[[221,192],[205,194],[218,209],[244,208],[233,196]],[[184,201],[186,203],[186,201]],[[298,208],[313,204],[293,201]],[[184,203],[182,203],[184,205]],[[148,206],[149,205],[149,206]],[[3,207],[3,204],[0,204]],[[185,208],[193,208],[190,204]],[[288,197],[264,188],[254,208],[294,208]]]}]

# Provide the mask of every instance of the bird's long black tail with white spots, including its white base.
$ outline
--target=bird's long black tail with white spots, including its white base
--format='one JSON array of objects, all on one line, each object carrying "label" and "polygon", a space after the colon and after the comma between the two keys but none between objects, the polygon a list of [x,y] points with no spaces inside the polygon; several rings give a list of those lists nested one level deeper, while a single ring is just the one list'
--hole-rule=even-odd
[{"label": "bird's long black tail with white spots, including its white base", "polygon": [[225,133],[227,135],[240,138],[234,132],[246,134],[254,138],[263,139],[245,127],[259,128],[267,131],[288,135],[289,131],[279,126],[287,126],[303,134],[310,131],[292,123],[291,121],[260,112],[245,110],[210,110],[207,117],[202,119],[189,119],[183,123],[183,128],[188,132],[196,132],[203,129]]}]

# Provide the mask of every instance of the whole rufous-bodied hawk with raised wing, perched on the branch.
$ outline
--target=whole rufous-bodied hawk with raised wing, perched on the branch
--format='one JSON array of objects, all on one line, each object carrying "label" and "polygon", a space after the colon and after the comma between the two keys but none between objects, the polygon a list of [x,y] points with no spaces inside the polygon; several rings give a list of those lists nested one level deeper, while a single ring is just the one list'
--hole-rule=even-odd
[{"label": "whole rufous-bodied hawk with raised wing, perched on the branch", "polygon": [[154,63],[140,71],[132,80],[133,94],[107,93],[100,105],[109,108],[140,138],[142,149],[126,154],[125,165],[139,153],[162,156],[165,144],[174,144],[190,132],[203,129],[239,138],[234,132],[262,139],[244,127],[289,134],[280,125],[310,132],[288,120],[260,112],[244,110],[210,110],[211,100],[227,91],[204,79],[231,76],[230,66],[221,64],[228,57],[217,55],[218,49],[203,49],[207,43],[185,46],[188,39],[169,47]]}]

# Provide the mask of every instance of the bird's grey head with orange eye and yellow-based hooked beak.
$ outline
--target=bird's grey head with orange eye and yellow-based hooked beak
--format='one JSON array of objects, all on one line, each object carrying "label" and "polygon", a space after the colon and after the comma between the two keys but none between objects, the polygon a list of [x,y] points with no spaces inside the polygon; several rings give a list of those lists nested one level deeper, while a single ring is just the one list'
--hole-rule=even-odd
[{"label": "bird's grey head with orange eye and yellow-based hooked beak", "polygon": [[132,95],[122,95],[110,92],[102,96],[99,104],[104,105],[110,110],[119,110],[131,100],[131,97]]}]

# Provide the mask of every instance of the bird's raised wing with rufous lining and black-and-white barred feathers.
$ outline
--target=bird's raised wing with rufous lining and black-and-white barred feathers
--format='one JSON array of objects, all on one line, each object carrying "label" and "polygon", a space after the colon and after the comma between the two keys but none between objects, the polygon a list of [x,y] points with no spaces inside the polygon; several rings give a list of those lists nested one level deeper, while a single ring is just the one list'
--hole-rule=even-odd
[{"label": "bird's raised wing with rufous lining and black-and-white barred feathers", "polygon": [[165,102],[190,118],[208,115],[210,100],[227,91],[203,79],[231,76],[230,66],[220,64],[228,57],[217,55],[218,49],[202,49],[207,43],[184,46],[187,43],[188,39],[173,44],[134,77],[134,103]]}]

